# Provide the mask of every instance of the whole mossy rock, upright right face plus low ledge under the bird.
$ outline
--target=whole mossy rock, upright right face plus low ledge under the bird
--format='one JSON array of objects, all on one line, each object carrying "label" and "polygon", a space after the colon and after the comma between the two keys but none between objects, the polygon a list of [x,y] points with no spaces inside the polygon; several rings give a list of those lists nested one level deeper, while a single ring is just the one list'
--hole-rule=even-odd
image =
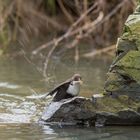
[{"label": "whole mossy rock, upright right face plus low ledge under the bird", "polygon": [[140,4],[128,17],[116,47],[104,96],[52,102],[40,120],[91,126],[140,125]]}]

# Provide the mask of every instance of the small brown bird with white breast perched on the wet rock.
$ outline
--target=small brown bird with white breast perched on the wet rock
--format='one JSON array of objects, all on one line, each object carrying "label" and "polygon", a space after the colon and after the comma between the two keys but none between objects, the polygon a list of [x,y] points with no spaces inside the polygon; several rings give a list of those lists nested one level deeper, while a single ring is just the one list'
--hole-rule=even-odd
[{"label": "small brown bird with white breast perched on the wet rock", "polygon": [[80,74],[74,74],[73,77],[64,83],[60,84],[52,91],[50,91],[46,96],[53,96],[54,102],[58,102],[62,99],[72,98],[79,94],[80,85],[82,84],[82,78]]}]

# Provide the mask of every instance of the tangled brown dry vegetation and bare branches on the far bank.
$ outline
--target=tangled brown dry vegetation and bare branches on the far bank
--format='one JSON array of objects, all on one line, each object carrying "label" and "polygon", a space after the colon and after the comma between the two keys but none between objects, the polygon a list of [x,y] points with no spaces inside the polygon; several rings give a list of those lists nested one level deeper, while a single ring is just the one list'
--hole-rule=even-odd
[{"label": "tangled brown dry vegetation and bare branches on the far bank", "polygon": [[19,50],[24,55],[27,50],[41,54],[44,75],[57,47],[61,53],[74,48],[75,60],[79,48],[85,47],[80,44],[90,52],[84,57],[111,54],[111,45],[135,6],[134,0],[0,0],[1,53],[18,46],[12,54],[22,54]]}]

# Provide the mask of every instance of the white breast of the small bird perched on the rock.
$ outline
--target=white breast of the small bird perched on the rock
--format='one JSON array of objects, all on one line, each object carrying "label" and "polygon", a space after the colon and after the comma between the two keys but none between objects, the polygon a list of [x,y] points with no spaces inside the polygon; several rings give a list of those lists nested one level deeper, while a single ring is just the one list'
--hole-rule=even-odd
[{"label": "white breast of the small bird perched on the rock", "polygon": [[77,96],[80,92],[80,84],[70,84],[67,93],[73,96]]}]

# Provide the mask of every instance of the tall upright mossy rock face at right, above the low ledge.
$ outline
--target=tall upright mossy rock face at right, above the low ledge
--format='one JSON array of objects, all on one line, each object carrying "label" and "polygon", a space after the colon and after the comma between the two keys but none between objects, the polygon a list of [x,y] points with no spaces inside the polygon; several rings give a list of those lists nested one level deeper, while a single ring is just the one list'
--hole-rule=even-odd
[{"label": "tall upright mossy rock face at right, above the low ledge", "polygon": [[140,99],[140,5],[125,23],[116,45],[116,58],[108,72],[107,93]]}]

